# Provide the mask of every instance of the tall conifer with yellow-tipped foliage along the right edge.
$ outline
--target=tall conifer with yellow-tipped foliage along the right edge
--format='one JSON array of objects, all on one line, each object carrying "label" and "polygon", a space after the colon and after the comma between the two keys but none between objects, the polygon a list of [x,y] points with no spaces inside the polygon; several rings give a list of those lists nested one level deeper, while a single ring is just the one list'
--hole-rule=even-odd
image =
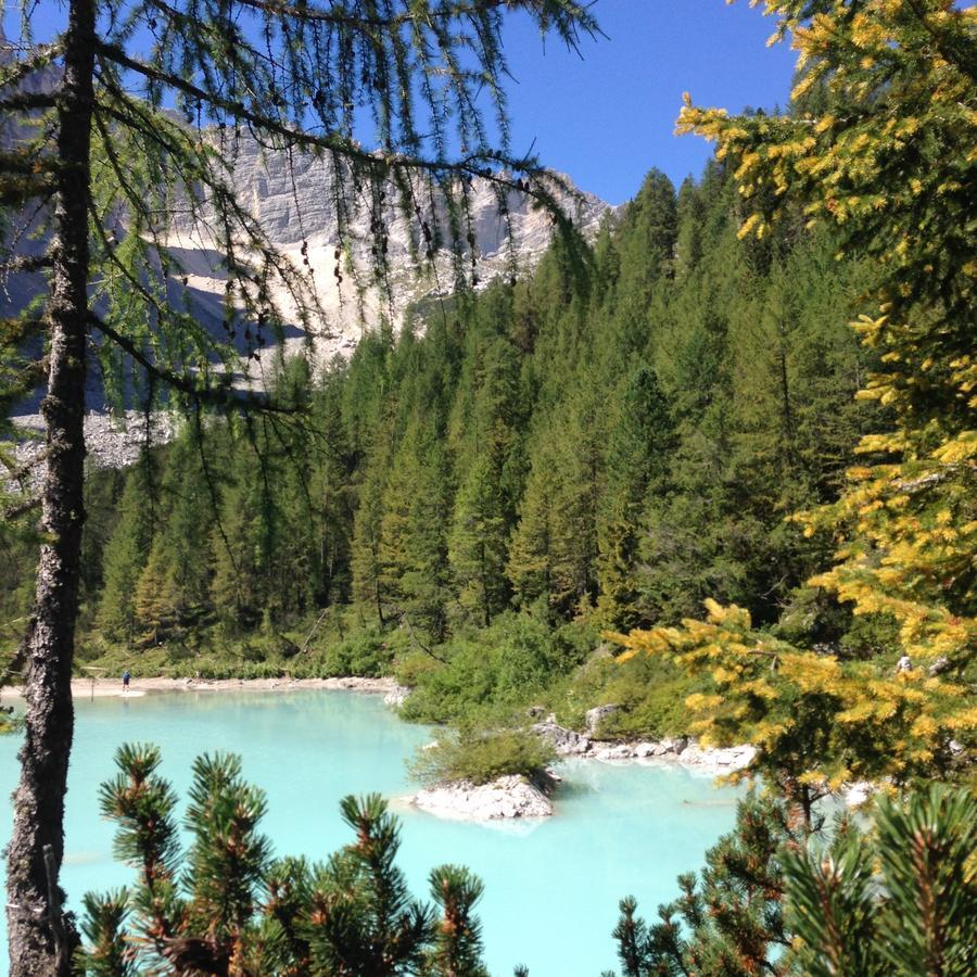
[{"label": "tall conifer with yellow-tipped foliage along the right edge", "polygon": [[[706,622],[621,642],[708,675],[710,691],[688,700],[699,732],[749,737],[762,765],[801,784],[942,774],[951,740],[966,745],[977,727],[966,684],[977,648],[977,10],[765,5],[798,51],[795,110],[731,117],[686,99],[678,129],[715,139],[736,167],[752,211],[743,237],[801,211],[874,258],[877,312],[852,325],[883,369],[859,396],[888,408],[894,430],[862,439],[865,464],[835,505],[795,518],[837,542],[834,566],[810,584],[894,622],[898,646],[846,663],[714,602]],[[910,662],[897,670],[902,655]]]}]

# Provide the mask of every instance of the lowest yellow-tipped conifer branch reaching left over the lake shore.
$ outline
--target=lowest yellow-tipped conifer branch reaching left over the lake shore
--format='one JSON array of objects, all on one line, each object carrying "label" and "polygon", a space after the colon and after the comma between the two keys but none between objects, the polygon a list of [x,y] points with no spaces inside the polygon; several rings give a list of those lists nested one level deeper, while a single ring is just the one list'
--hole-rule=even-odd
[{"label": "lowest yellow-tipped conifer branch reaching left over the lake shore", "polygon": [[686,707],[707,744],[744,738],[760,766],[787,783],[837,787],[858,778],[905,782],[950,762],[948,741],[977,720],[969,689],[892,661],[841,662],[754,631],[738,607],[708,601],[706,621],[619,636],[627,659],[663,656],[708,677]]}]

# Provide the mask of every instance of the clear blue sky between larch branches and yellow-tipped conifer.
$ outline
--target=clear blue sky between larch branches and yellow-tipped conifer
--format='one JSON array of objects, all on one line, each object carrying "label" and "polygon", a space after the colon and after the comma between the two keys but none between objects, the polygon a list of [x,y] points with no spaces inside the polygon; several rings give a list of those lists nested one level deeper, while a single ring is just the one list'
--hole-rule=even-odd
[{"label": "clear blue sky between larch branches and yellow-tipped conifer", "polygon": [[[16,4],[7,7],[15,36]],[[59,29],[64,12],[63,0],[39,0],[37,34]],[[610,203],[632,198],[652,166],[676,183],[701,172],[711,147],[673,135],[684,91],[733,112],[787,100],[792,52],[766,47],[773,22],[748,0],[596,0],[593,12],[607,37],[584,38],[582,56],[554,39],[544,46],[526,16],[507,21],[512,150],[534,147]]]}]

